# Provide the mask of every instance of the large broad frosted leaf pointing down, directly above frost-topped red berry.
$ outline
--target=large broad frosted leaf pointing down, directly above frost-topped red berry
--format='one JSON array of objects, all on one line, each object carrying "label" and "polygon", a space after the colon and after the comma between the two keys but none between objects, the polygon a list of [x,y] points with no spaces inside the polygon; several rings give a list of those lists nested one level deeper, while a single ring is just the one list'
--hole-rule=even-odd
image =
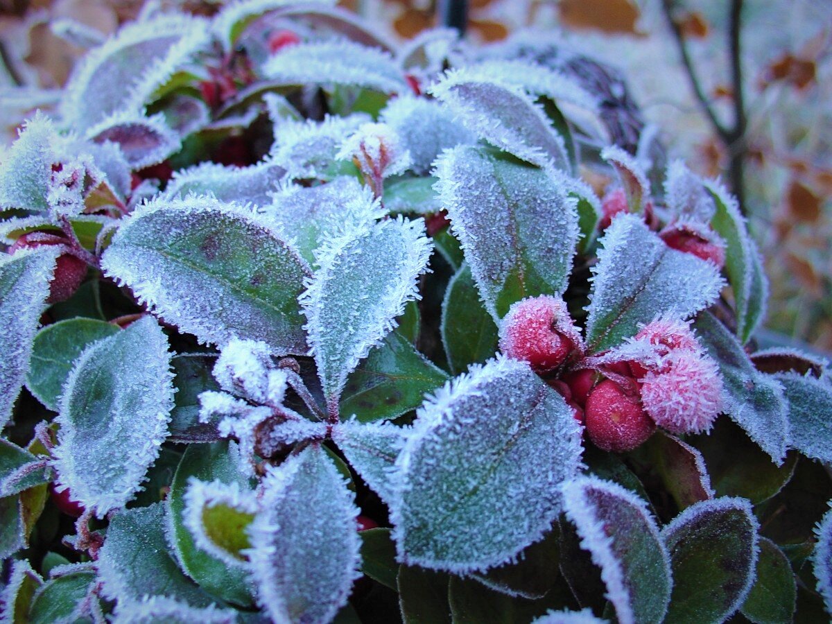
[{"label": "large broad frosted leaf pointing down, directly above frost-topped red berry", "polygon": [[562,295],[578,219],[557,178],[473,146],[445,151],[436,176],[440,204],[494,319],[524,297]]}]

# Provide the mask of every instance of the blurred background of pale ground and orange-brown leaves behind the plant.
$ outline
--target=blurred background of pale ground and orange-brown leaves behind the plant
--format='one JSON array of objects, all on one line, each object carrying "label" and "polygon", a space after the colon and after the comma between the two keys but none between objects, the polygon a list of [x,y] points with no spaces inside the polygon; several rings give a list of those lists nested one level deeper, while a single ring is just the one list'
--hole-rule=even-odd
[{"label": "blurred background of pale ground and orange-brown leaves behind the plant", "polygon": [[[211,14],[217,2],[158,2]],[[0,131],[60,97],[84,52],[62,19],[103,34],[136,0],[0,0]],[[438,22],[471,42],[526,32],[617,69],[670,158],[721,176],[771,280],[766,328],[832,352],[832,2],[828,0],[344,0],[399,41]]]}]

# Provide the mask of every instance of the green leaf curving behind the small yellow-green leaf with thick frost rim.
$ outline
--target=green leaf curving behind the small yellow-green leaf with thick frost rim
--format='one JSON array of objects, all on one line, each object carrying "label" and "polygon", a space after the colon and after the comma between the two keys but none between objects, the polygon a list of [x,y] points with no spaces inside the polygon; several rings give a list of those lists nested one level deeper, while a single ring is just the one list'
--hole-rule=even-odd
[{"label": "green leaf curving behind the small yellow-green leaf with thick frost rim", "polygon": [[240,473],[239,461],[235,443],[191,444],[186,448],[165,503],[166,522],[176,558],[188,576],[206,592],[248,607],[251,596],[245,572],[201,549],[185,522],[185,495],[189,478],[206,483],[236,484],[243,490],[248,489],[248,479]]}]

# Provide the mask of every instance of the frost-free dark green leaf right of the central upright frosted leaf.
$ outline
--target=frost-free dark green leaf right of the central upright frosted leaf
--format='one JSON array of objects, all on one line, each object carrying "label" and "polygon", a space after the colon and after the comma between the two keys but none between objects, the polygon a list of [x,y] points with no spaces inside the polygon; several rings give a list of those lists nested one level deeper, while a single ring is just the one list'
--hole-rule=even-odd
[{"label": "frost-free dark green leaf right of the central upright frosted leaf", "polygon": [[347,378],[340,414],[360,422],[398,418],[448,380],[399,331],[387,334]]}]

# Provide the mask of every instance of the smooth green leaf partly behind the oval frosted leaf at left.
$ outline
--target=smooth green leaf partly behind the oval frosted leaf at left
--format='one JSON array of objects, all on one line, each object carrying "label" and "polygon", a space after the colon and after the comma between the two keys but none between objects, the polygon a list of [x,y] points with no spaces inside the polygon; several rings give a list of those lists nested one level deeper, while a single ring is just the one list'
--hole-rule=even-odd
[{"label": "smooth green leaf partly behind the oval frosted leaf at left", "polygon": [[41,329],[32,343],[32,360],[26,374],[29,392],[47,408],[57,411],[72,363],[90,344],[118,332],[117,325],[96,319],[62,320]]}]

